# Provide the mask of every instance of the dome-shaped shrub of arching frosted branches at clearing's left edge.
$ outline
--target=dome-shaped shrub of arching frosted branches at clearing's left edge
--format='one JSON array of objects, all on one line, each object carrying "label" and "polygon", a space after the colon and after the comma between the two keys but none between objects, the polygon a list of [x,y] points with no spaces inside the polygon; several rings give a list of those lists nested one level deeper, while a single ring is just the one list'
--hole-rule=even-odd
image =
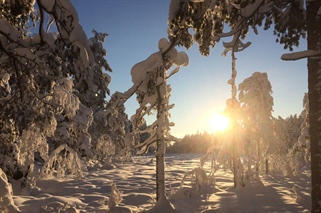
[{"label": "dome-shaped shrub of arching frosted branches at clearing's left edge", "polygon": [[40,175],[43,178],[62,178],[65,175],[81,178],[84,167],[77,153],[67,144],[62,144],[51,153],[43,165]]}]

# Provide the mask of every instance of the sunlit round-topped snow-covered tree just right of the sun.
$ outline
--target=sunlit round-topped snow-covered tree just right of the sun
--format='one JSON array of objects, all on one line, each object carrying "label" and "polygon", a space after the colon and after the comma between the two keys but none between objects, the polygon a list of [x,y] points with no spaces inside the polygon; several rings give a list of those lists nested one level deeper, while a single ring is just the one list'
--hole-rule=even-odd
[{"label": "sunlit round-topped snow-covered tree just right of the sun", "polygon": [[[261,163],[267,159],[269,144],[274,139],[271,138],[273,135],[272,86],[266,73],[255,72],[240,83],[238,89],[241,122],[250,138],[246,152],[249,159],[255,159],[256,178],[258,179]],[[249,162],[248,168],[251,168],[251,162]],[[248,172],[251,174],[251,170]]]}]

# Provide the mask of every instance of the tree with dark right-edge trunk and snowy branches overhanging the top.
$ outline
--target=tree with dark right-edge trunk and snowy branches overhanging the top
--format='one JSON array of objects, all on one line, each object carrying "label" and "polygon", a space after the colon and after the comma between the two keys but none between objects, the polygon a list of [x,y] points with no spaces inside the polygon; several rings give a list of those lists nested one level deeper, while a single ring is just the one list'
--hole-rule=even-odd
[{"label": "tree with dark right-edge trunk and snowy branches overhanging the top", "polygon": [[308,50],[284,54],[282,59],[308,58],[312,212],[321,212],[320,7],[319,0],[172,0],[168,17],[171,40],[186,48],[197,42],[203,55],[208,55],[210,47],[224,37],[233,36],[231,42],[224,43],[229,44],[228,48],[246,48],[250,43],[242,40],[247,32],[253,29],[258,34],[257,27],[262,25],[265,30],[274,27],[276,42],[285,49],[293,50],[301,38],[307,37]]}]

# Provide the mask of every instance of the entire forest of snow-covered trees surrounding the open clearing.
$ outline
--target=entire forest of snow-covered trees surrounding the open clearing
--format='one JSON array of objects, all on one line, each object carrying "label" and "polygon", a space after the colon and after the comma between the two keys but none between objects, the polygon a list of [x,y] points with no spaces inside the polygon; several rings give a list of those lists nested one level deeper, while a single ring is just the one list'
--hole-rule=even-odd
[{"label": "entire forest of snow-covered trees surrounding the open clearing", "polygon": [[[103,47],[108,34],[93,30],[87,38],[69,0],[4,0],[0,11],[0,212],[23,212],[14,197],[28,190],[32,196],[40,188],[37,183],[81,179],[89,168],[117,170],[118,164],[148,152],[155,156],[156,195],[147,212],[177,212],[167,196],[166,149],[191,153],[191,147],[205,155],[182,183],[195,177],[191,185],[197,192],[215,176],[216,155],[229,158],[234,189],[258,183],[262,174],[273,171],[299,175],[309,165],[311,212],[321,212],[321,1],[172,0],[164,29],[168,38],[160,38],[155,52],[132,67],[133,85],[114,94],[108,88],[112,68]],[[309,91],[302,94],[300,115],[272,116],[268,73],[254,72],[235,83],[236,55],[246,51],[250,43],[243,40],[258,27],[273,28],[276,42],[291,51],[300,39],[307,40],[306,51],[282,56],[307,60]],[[188,66],[191,45],[198,44],[200,54],[208,56],[221,38],[231,38],[223,42],[223,55],[231,54],[232,61],[231,97],[223,112],[230,127],[177,138],[170,131],[174,104],[168,79]],[[129,118],[124,103],[132,96],[139,107]],[[150,114],[155,120],[147,124]],[[203,165],[210,159],[207,177]],[[119,212],[114,183],[110,193],[108,204],[100,204],[105,212]],[[68,208],[60,210],[77,212]]]}]

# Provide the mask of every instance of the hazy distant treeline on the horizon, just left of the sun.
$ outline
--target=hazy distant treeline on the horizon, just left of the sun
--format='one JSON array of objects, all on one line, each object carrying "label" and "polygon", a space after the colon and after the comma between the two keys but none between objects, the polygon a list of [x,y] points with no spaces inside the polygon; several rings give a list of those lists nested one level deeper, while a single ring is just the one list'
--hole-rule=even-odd
[{"label": "hazy distant treeline on the horizon, just left of the sun", "polygon": [[186,135],[180,142],[167,146],[167,153],[206,153],[208,147],[216,143],[215,134],[208,132]]}]

